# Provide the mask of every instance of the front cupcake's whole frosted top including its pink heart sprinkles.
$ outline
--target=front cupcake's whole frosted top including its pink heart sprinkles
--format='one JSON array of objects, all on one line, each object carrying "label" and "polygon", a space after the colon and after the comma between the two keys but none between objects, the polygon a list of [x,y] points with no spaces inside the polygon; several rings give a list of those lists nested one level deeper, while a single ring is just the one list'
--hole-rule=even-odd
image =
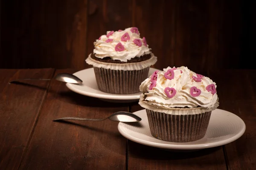
[{"label": "front cupcake's whole frosted top including its pink heart sprinkles", "polygon": [[212,108],[218,102],[216,84],[187,67],[167,67],[142,82],[143,101],[162,108]]}]

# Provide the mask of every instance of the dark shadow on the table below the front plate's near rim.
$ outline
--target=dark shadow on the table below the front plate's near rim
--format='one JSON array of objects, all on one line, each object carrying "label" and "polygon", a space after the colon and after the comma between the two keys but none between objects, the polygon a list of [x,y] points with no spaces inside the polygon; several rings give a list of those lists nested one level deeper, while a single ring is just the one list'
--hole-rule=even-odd
[{"label": "dark shadow on the table below the front plate's near rim", "polygon": [[195,158],[204,155],[209,155],[222,150],[222,147],[213,147],[202,150],[164,150],[156,147],[149,147],[146,145],[138,144],[133,141],[128,141],[129,154],[132,157],[152,159],[152,160],[177,160]]}]

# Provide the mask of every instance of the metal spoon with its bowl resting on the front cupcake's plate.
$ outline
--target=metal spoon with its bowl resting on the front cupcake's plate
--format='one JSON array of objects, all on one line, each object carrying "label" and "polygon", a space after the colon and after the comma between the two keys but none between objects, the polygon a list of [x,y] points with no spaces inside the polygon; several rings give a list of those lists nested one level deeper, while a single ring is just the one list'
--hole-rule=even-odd
[{"label": "metal spoon with its bowl resting on the front cupcake's plate", "polygon": [[64,118],[57,118],[53,121],[58,121],[58,120],[104,121],[106,119],[109,119],[111,121],[120,121],[120,122],[138,122],[138,121],[141,121],[141,118],[138,117],[137,115],[134,115],[131,112],[125,112],[125,111],[115,112],[112,115],[108,116],[108,118],[104,118],[104,119],[64,117]]}]

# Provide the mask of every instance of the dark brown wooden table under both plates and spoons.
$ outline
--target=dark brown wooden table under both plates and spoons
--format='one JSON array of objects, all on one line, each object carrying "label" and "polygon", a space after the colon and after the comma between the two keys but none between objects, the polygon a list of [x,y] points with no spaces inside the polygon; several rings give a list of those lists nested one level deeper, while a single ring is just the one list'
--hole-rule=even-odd
[{"label": "dark brown wooden table under both plates and spoons", "polygon": [[[199,72],[217,84],[219,109],[242,118],[244,135],[225,146],[171,153],[124,138],[113,121],[53,122],[63,116],[105,118],[135,112],[137,102],[115,104],[76,94],[53,78],[74,69],[0,69],[0,170],[255,170],[256,70]],[[30,85],[27,85],[30,84]]]}]

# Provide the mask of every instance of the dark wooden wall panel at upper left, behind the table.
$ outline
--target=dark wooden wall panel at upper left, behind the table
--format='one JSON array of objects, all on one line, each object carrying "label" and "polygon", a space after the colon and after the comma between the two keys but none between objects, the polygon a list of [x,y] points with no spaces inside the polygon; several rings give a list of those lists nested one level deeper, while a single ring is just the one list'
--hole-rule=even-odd
[{"label": "dark wooden wall panel at upper left, behind the table", "polygon": [[84,68],[87,0],[1,4],[1,68]]}]

